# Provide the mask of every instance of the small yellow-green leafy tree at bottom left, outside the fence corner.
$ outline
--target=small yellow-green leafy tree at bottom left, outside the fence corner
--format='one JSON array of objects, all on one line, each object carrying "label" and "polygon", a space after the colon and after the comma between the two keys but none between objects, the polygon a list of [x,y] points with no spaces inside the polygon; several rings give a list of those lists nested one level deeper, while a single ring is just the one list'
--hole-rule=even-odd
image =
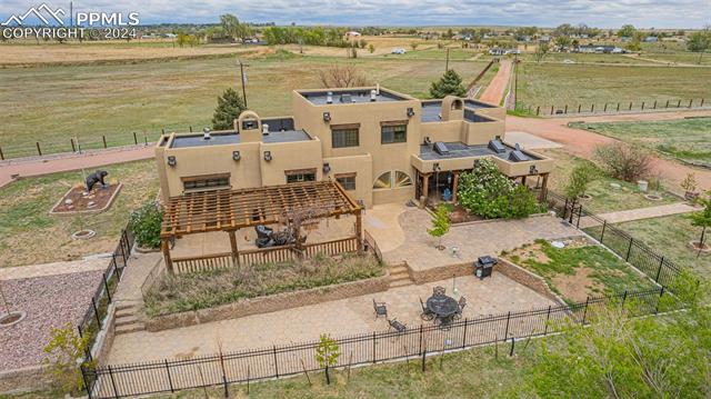
[{"label": "small yellow-green leafy tree at bottom left, outside the fence corner", "polygon": [[[88,349],[89,335],[79,337],[70,322],[62,328],[51,328],[50,341],[43,349],[46,357],[42,363],[62,392],[77,395],[84,388],[78,366]],[[84,362],[83,366],[89,365]]]}]

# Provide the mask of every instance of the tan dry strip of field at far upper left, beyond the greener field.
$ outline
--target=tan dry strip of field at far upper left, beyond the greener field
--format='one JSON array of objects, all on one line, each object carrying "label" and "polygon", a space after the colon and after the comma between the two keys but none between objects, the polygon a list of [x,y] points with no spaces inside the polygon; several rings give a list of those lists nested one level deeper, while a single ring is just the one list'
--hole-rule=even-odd
[{"label": "tan dry strip of field at far upper left, beyond the greener field", "polygon": [[264,51],[249,46],[199,46],[183,47],[172,42],[121,42],[82,44],[0,44],[0,68],[32,64],[79,64],[129,62],[171,58],[216,57],[243,52]]}]

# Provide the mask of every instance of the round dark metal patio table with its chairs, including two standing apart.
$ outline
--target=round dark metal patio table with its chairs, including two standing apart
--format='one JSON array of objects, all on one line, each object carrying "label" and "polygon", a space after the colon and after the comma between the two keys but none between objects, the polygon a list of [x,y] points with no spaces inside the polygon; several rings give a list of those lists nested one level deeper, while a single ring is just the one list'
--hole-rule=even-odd
[{"label": "round dark metal patio table with its chairs, including two standing apart", "polygon": [[[442,330],[448,330],[451,327],[453,320],[462,318],[462,311],[467,306],[467,298],[461,297],[455,300],[452,297],[447,296],[443,287],[434,287],[432,289],[432,296],[422,301],[420,298],[420,307],[422,312],[420,318],[424,321],[434,321]],[[375,319],[384,317],[390,325],[390,328],[398,332],[403,332],[405,326],[397,319],[388,318],[388,307],[384,302],[375,302],[373,299],[373,310],[375,312]]]}]

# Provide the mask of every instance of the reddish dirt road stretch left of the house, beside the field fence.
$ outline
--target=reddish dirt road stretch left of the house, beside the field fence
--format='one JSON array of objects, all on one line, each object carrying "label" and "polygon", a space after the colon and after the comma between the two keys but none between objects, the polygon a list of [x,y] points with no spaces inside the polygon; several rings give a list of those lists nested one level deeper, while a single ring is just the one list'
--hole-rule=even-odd
[{"label": "reddish dirt road stretch left of the house, beside the field fence", "polygon": [[0,187],[12,181],[12,174],[20,177],[40,176],[78,169],[96,168],[153,157],[153,147],[110,149],[84,154],[66,154],[51,159],[6,161],[0,163]]}]

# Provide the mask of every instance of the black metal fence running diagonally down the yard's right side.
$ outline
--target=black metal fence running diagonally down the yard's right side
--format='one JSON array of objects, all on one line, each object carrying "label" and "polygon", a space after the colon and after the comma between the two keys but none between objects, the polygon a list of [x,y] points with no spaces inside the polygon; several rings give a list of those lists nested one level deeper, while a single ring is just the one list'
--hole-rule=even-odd
[{"label": "black metal fence running diagonally down the yard's right side", "polygon": [[681,273],[682,267],[671,259],[585,210],[582,205],[573,203],[551,191],[547,192],[547,200],[551,209],[555,210],[562,219],[585,231],[658,285],[672,286],[674,279]]}]

